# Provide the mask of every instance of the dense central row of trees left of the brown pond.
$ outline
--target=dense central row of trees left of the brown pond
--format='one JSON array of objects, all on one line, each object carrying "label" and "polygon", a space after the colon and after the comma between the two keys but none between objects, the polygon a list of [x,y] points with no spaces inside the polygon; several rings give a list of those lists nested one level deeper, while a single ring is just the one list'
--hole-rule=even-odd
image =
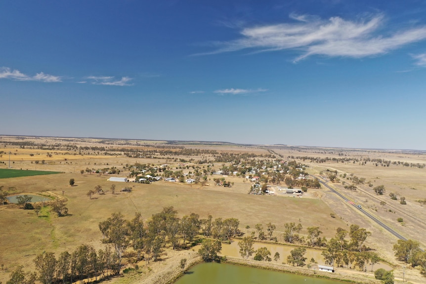
[{"label": "dense central row of trees left of the brown pond", "polygon": [[191,213],[182,218],[172,206],[163,208],[160,213],[144,224],[140,213],[131,220],[125,220],[121,213],[113,213],[107,220],[99,223],[103,243],[111,244],[116,252],[119,265],[128,247],[132,247],[137,259],[157,260],[166,244],[173,249],[187,247],[194,242],[200,232],[206,237],[217,240],[228,240],[240,232],[239,220],[235,218],[216,218],[209,215],[200,219],[198,214]]}]

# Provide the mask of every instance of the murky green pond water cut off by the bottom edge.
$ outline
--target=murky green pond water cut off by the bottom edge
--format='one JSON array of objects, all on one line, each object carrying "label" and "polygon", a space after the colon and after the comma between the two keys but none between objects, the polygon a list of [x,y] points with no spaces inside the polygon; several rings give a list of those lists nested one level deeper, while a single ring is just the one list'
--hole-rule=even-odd
[{"label": "murky green pond water cut off by the bottom edge", "polygon": [[226,263],[201,263],[174,284],[342,284],[284,272]]}]

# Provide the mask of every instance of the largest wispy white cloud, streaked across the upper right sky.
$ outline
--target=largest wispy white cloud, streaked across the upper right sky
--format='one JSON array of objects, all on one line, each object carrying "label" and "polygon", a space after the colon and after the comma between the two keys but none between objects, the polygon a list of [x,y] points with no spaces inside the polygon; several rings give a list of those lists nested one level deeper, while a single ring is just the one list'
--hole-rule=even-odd
[{"label": "largest wispy white cloud, streaked across the upper right sky", "polygon": [[[251,52],[298,50],[294,61],[311,55],[347,56],[360,58],[381,55],[403,45],[426,39],[426,27],[411,27],[381,34],[385,28],[383,14],[357,20],[332,17],[328,20],[311,15],[290,14],[292,23],[246,27],[241,38],[215,42],[217,48],[207,55],[243,49]],[[381,29],[383,30],[383,29]]]}]

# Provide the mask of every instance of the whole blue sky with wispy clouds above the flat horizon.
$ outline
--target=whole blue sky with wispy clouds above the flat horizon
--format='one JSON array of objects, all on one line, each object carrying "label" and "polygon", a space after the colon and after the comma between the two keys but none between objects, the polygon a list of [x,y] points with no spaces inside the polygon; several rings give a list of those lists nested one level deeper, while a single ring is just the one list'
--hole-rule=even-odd
[{"label": "whole blue sky with wispy clouds above the flat horizon", "polygon": [[0,134],[426,150],[426,1],[0,1]]}]

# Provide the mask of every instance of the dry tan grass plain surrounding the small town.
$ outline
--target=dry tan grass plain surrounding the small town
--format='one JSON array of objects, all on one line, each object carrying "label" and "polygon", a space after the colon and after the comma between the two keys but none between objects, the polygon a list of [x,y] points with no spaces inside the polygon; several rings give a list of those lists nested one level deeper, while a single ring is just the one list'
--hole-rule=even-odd
[{"label": "dry tan grass plain surrounding the small town", "polygon": [[[375,247],[379,254],[395,268],[395,276],[400,275],[398,265],[393,257],[392,245],[396,238],[378,227],[371,220],[351,208],[347,203],[326,189],[308,190],[303,198],[290,198],[285,196],[256,196],[248,195],[251,186],[250,181],[242,177],[227,176],[226,180],[233,182],[232,187],[216,186],[213,183],[214,176],[209,174],[209,180],[205,186],[200,184],[170,183],[158,181],[152,184],[119,183],[116,194],[106,193],[95,195],[92,199],[86,193],[100,185],[104,190],[109,190],[113,182],[107,181],[110,175],[81,173],[86,168],[98,169],[105,167],[117,167],[122,172],[119,176],[127,176],[130,171],[127,165],[134,163],[161,165],[169,164],[170,168],[177,170],[182,164],[180,159],[193,165],[194,162],[204,159],[213,161],[213,154],[190,155],[153,155],[148,157],[126,157],[123,152],[115,152],[114,155],[104,155],[106,151],[96,151],[90,147],[109,147],[109,149],[134,149],[140,151],[151,151],[153,148],[164,150],[171,149],[200,149],[216,151],[217,153],[255,153],[256,155],[268,155],[263,147],[239,146],[239,145],[169,145],[165,141],[125,141],[76,138],[36,138],[2,136],[0,141],[0,168],[7,168],[9,152],[11,166],[14,169],[37,169],[60,171],[61,174],[19,177],[0,179],[0,186],[10,194],[36,193],[63,198],[67,201],[69,215],[57,217],[44,208],[39,216],[34,210],[23,210],[17,205],[0,206],[0,243],[6,247],[0,253],[0,281],[3,283],[8,279],[9,271],[17,264],[23,264],[28,269],[33,269],[33,258],[43,251],[53,251],[56,254],[64,250],[71,251],[82,243],[92,244],[96,248],[103,246],[102,235],[98,229],[98,223],[108,218],[113,212],[122,212],[127,218],[131,218],[135,212],[140,212],[145,219],[152,214],[162,210],[165,206],[173,206],[179,216],[195,212],[200,218],[206,218],[209,214],[213,218],[238,218],[240,227],[249,225],[254,228],[257,223],[266,224],[271,222],[276,225],[276,231],[284,231],[284,224],[289,222],[301,223],[306,233],[306,228],[319,226],[323,235],[329,239],[334,236],[336,228],[347,227],[350,224],[358,224],[372,232],[368,245]],[[8,142],[26,141],[43,143],[43,147],[10,145]],[[74,145],[79,148],[68,150],[48,149],[52,145],[61,144]],[[88,147],[83,149],[80,147]],[[157,148],[156,148],[157,147]],[[169,147],[169,148],[168,148]],[[83,149],[83,150],[81,150]],[[151,149],[151,150],[150,150]],[[411,152],[385,152],[350,149],[320,149],[307,147],[271,147],[281,155],[284,160],[297,160],[306,164],[307,172],[318,176],[326,176],[328,170],[337,170],[338,177],[346,173],[346,176],[354,174],[366,179],[365,184],[358,185],[355,192],[344,189],[345,181],[329,183],[333,188],[344,194],[349,200],[362,203],[363,208],[380,218],[391,228],[406,236],[422,243],[426,243],[426,209],[420,206],[416,200],[426,198],[426,169],[418,167],[403,166],[401,164],[390,164],[389,166],[376,166],[374,162],[365,165],[360,162],[310,162],[303,161],[301,157],[315,158],[351,158],[382,159],[386,161],[426,163],[424,153]],[[159,152],[160,153],[160,152]],[[32,154],[32,155],[30,155]],[[50,156],[51,155],[51,156]],[[257,159],[257,158],[256,158]],[[258,158],[260,159],[260,158]],[[42,161],[44,162],[42,163]],[[36,163],[36,161],[39,161]],[[214,162],[213,168],[218,170],[222,162]],[[225,163],[229,165],[229,163]],[[124,168],[126,167],[126,168]],[[184,172],[192,168],[183,168]],[[117,175],[115,175],[117,176]],[[70,186],[69,180],[75,179],[75,185]],[[244,181],[243,181],[244,180]],[[369,187],[367,182],[373,186],[384,185],[386,192],[378,196]],[[120,188],[131,186],[131,193],[122,193]],[[282,182],[281,186],[285,186]],[[389,198],[388,193],[395,192],[398,197],[406,197],[407,204],[402,205],[398,201]],[[384,201],[386,204],[381,205]],[[330,213],[335,213],[336,218],[331,218]],[[402,217],[401,224],[396,221]],[[411,274],[413,283],[421,283],[417,271],[406,272]],[[420,280],[420,282],[419,282]]]}]

